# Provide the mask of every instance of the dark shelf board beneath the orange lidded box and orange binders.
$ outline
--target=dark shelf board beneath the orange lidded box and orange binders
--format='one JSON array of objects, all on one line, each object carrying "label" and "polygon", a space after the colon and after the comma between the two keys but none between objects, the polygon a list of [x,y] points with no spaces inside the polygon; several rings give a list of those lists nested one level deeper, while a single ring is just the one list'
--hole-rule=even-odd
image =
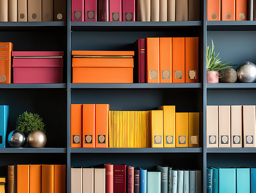
[{"label": "dark shelf board beneath the orange lidded box and orange binders", "polygon": [[76,89],[161,89],[161,88],[201,88],[201,83],[71,83]]}]

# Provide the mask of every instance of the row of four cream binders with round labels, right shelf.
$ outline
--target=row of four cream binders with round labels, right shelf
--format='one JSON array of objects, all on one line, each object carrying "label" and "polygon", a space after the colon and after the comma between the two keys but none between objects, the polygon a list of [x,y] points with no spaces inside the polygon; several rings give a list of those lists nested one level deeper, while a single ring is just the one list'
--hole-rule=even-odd
[{"label": "row of four cream binders with round labels, right shelf", "polygon": [[206,147],[256,147],[256,106],[207,106]]}]

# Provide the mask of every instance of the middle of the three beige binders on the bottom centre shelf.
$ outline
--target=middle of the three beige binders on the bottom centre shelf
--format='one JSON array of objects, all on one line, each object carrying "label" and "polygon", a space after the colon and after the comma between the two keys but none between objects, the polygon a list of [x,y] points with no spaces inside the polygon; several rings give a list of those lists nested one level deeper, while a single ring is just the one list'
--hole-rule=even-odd
[{"label": "middle of the three beige binders on the bottom centre shelf", "polygon": [[83,168],[83,193],[93,193],[94,169]]}]

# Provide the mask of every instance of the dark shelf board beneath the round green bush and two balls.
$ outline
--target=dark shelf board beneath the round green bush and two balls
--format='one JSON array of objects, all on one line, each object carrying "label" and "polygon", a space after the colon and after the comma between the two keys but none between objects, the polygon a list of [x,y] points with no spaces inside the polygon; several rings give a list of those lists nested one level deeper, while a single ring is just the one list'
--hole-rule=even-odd
[{"label": "dark shelf board beneath the round green bush and two balls", "polygon": [[0,153],[66,153],[66,148],[0,148]]}]

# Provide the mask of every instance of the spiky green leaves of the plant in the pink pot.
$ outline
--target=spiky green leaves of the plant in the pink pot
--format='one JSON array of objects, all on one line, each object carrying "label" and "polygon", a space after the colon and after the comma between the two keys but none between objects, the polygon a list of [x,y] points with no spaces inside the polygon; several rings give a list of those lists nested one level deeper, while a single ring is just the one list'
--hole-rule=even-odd
[{"label": "spiky green leaves of the plant in the pink pot", "polygon": [[227,61],[225,61],[224,63],[221,63],[220,59],[218,58],[219,54],[214,57],[214,44],[213,44],[213,40],[211,39],[212,42],[212,49],[210,48],[210,46],[207,47],[207,64],[206,64],[206,70],[207,71],[218,71],[221,69],[225,69],[225,68],[229,68],[232,67],[233,65],[229,65],[231,63],[225,64]]}]

